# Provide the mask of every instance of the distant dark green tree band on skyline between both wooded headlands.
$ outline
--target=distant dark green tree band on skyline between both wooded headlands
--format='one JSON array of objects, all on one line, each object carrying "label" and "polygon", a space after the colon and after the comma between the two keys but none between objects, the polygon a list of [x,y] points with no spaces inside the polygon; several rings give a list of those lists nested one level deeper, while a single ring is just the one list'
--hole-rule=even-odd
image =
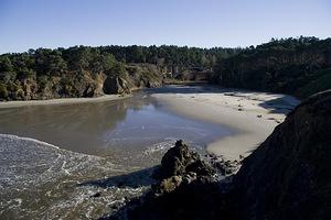
[{"label": "distant dark green tree band on skyline between both wooded headlands", "polygon": [[[179,69],[188,67],[211,68],[221,58],[231,57],[244,48],[199,48],[188,46],[103,46],[102,52],[113,54],[117,61],[125,63],[149,63],[160,67]],[[171,70],[171,69],[169,69]]]}]

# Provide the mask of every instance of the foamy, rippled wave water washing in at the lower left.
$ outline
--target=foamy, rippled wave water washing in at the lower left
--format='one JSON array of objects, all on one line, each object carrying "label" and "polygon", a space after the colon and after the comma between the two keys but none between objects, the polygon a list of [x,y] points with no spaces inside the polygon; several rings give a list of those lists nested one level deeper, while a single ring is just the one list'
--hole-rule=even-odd
[{"label": "foamy, rippled wave water washing in at the lower left", "polygon": [[[128,175],[129,169],[105,158],[30,138],[0,134],[0,219],[15,219],[13,213],[22,219],[65,219],[73,210],[88,210],[87,216],[96,219],[100,210],[111,212],[111,206],[124,206],[124,198],[148,188],[130,186],[137,178],[146,183],[145,174]],[[117,187],[125,180],[128,186]],[[100,197],[93,197],[100,191]]]}]

